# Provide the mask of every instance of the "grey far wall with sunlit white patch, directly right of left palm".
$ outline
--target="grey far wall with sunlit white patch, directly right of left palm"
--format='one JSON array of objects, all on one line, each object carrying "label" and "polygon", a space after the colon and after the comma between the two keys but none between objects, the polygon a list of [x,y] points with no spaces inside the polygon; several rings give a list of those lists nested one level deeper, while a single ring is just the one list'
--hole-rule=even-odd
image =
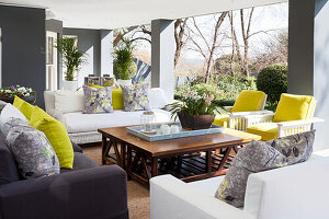
[{"label": "grey far wall with sunlit white patch, directly right of left palm", "polygon": [[78,47],[87,53],[87,64],[81,66],[78,76],[79,87],[88,74],[101,73],[101,35],[99,30],[63,28],[63,35],[78,36]]}]

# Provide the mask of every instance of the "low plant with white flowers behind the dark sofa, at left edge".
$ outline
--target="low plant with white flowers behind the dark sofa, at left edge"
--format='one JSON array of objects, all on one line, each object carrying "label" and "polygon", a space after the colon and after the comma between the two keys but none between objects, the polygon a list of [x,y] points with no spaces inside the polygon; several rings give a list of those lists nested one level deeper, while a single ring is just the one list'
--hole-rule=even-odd
[{"label": "low plant with white flowers behind the dark sofa, at left edge", "polygon": [[11,85],[0,89],[1,101],[12,104],[15,95],[26,101],[27,103],[35,103],[35,91],[33,91],[31,88]]}]

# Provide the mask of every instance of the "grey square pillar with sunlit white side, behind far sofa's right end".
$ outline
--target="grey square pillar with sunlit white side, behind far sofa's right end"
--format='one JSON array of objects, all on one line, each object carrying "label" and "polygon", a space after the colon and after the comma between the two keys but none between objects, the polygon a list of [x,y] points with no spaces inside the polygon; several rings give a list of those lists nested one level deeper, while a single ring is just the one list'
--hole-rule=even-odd
[{"label": "grey square pillar with sunlit white side, behind far sofa's right end", "polygon": [[174,22],[151,21],[151,87],[161,88],[168,101],[173,100]]}]

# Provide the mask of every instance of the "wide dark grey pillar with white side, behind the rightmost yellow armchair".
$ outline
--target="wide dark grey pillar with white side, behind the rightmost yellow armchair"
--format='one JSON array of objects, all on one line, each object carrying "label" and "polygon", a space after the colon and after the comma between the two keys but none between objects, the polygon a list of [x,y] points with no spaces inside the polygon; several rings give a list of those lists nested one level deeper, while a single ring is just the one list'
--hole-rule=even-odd
[{"label": "wide dark grey pillar with white side, behind the rightmost yellow armchair", "polygon": [[329,3],[328,0],[290,1],[288,92],[317,100],[315,150],[329,148]]}]

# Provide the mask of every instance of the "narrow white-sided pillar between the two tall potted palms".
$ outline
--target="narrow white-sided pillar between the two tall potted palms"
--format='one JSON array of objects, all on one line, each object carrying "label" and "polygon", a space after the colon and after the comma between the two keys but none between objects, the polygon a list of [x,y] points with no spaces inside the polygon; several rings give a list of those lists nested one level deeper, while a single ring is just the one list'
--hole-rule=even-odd
[{"label": "narrow white-sided pillar between the two tall potted palms", "polygon": [[113,31],[101,30],[101,72],[113,77]]}]

